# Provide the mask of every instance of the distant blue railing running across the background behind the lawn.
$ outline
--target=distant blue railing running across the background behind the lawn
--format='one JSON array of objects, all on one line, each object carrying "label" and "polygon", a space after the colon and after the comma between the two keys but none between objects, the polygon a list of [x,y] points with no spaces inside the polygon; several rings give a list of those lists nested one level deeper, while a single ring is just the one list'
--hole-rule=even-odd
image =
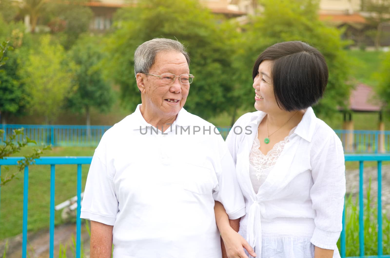
[{"label": "distant blue railing running across the background behind the lawn", "polygon": [[[111,126],[106,125],[0,125],[5,131],[3,140],[12,130],[24,128],[25,136],[41,144],[52,146],[88,146],[96,147],[103,134]],[[217,127],[226,139],[231,127]],[[390,131],[371,130],[335,130],[343,143],[346,153],[389,153]],[[16,140],[21,140],[18,136]],[[0,139],[1,140],[1,139]]]}]

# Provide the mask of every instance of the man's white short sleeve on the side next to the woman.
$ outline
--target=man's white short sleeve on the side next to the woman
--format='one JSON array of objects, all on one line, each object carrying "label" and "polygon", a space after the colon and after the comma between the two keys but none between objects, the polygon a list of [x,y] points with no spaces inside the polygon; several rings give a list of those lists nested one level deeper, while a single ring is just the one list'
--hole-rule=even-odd
[{"label": "man's white short sleeve on the side next to the woman", "polygon": [[214,200],[222,203],[229,219],[238,219],[245,215],[245,202],[236,176],[236,166],[222,140],[224,154],[217,171],[218,191],[213,192]]}]

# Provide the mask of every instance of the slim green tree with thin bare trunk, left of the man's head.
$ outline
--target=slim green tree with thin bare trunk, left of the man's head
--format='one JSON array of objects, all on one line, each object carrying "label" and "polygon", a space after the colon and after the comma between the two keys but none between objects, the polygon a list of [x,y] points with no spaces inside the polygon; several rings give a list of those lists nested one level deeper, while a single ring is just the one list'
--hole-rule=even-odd
[{"label": "slim green tree with thin bare trunk, left of the man's head", "polygon": [[85,37],[70,51],[70,57],[77,65],[73,80],[77,90],[67,98],[67,107],[85,113],[87,126],[90,125],[92,108],[107,112],[114,100],[110,84],[103,79],[103,69],[97,65],[103,58],[103,52],[94,41],[93,37]]}]

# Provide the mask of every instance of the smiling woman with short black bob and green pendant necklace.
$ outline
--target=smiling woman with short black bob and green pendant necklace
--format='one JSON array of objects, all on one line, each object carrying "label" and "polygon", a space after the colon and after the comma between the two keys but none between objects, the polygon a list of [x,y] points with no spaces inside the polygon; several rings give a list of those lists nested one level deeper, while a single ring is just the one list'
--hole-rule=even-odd
[{"label": "smiling woman with short black bob and green pendant necklace", "polygon": [[[251,133],[231,130],[226,140],[246,204],[239,234],[257,257],[340,257],[344,153],[311,108],[328,82],[325,59],[303,42],[277,43],[257,58],[252,77],[258,111],[234,124]],[[236,232],[221,234],[230,249],[245,246]]]}]

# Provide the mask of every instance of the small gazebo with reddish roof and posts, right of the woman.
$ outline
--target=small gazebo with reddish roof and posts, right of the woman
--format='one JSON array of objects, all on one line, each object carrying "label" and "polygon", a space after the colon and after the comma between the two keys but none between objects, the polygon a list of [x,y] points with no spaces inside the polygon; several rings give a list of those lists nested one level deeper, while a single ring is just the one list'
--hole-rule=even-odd
[{"label": "small gazebo with reddish roof and posts, right of the woman", "polygon": [[[371,87],[360,83],[351,92],[349,97],[349,106],[347,110],[341,110],[344,113],[343,130],[347,133],[342,135],[342,142],[347,152],[355,152],[356,143],[354,137],[354,123],[352,113],[355,112],[376,112],[378,113],[378,152],[385,152],[385,123],[383,122],[383,105],[376,99],[376,94]],[[383,133],[382,133],[383,132]],[[373,139],[374,140],[374,139]],[[372,143],[371,143],[372,145]]]}]

